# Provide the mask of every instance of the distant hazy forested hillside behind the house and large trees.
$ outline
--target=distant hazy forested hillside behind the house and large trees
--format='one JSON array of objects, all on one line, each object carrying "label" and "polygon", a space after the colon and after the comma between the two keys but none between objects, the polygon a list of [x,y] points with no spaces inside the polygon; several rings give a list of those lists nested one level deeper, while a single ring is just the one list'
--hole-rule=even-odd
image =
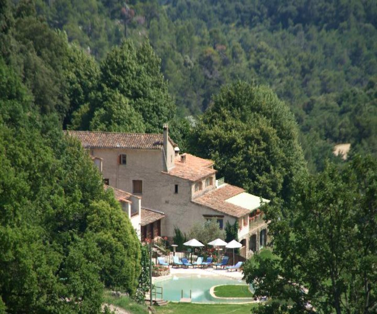
[{"label": "distant hazy forested hillside behind the house and large trees", "polygon": [[377,152],[375,1],[39,0],[37,11],[97,60],[149,38],[180,116],[224,84],[263,83],[294,112],[312,170],[334,143]]}]

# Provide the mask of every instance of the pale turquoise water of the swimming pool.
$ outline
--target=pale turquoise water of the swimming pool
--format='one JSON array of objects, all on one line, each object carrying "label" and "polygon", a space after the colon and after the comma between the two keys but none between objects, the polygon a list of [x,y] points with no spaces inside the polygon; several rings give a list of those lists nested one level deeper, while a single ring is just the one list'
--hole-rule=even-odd
[{"label": "pale turquoise water of the swimming pool", "polygon": [[[203,276],[203,275],[173,275],[166,279],[156,280],[155,286],[162,287],[162,298],[167,301],[179,301],[181,299],[181,293],[183,289],[183,297],[190,297],[192,302],[198,303],[231,303],[231,302],[247,302],[247,299],[241,300],[224,300],[216,299],[210,295],[210,289],[216,285],[237,285],[245,284],[242,280],[231,279],[225,276]],[[250,299],[251,300],[251,299]]]}]

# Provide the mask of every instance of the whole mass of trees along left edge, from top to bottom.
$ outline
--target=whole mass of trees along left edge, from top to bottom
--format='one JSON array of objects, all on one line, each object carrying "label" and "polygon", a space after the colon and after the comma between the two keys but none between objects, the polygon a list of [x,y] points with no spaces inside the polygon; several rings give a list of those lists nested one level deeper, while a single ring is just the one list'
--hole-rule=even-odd
[{"label": "whole mass of trees along left edge, from top to bottom", "polygon": [[87,152],[62,132],[95,71],[81,76],[67,38],[30,3],[1,10],[0,312],[100,312],[104,287],[135,292],[140,245]]}]

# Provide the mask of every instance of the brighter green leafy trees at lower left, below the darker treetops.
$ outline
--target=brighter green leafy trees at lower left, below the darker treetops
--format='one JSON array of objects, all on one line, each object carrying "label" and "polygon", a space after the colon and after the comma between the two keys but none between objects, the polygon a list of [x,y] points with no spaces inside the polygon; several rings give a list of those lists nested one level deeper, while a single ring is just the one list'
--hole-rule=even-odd
[{"label": "brighter green leafy trees at lower left, below the darker treetops", "polygon": [[135,291],[139,242],[80,143],[31,95],[0,58],[0,308],[100,312],[104,286]]}]

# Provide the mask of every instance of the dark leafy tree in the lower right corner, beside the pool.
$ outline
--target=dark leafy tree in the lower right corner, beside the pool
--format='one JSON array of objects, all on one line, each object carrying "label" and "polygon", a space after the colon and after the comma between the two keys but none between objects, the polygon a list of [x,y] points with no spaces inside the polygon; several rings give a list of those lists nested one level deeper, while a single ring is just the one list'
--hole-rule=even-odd
[{"label": "dark leafy tree in the lower right corner, beside the pool", "polygon": [[275,257],[247,262],[256,295],[291,300],[297,313],[372,313],[377,308],[377,160],[354,156],[337,169],[299,178],[290,220],[267,210]]}]

